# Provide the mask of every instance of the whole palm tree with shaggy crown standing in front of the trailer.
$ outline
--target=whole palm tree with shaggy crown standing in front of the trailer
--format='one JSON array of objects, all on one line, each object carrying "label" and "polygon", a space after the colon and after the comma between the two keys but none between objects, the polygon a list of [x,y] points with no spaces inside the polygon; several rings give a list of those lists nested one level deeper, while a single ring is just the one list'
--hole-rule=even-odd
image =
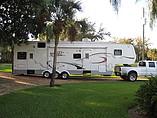
[{"label": "whole palm tree with shaggy crown standing in front of the trailer", "polygon": [[59,40],[65,32],[68,32],[69,40],[75,40],[77,32],[73,24],[69,24],[69,21],[74,20],[74,15],[77,11],[81,11],[81,4],[74,0],[53,0],[51,4],[54,8],[52,22],[47,25],[45,33],[48,41],[52,39],[55,41],[53,70],[49,85],[53,87],[56,76],[57,46]]}]

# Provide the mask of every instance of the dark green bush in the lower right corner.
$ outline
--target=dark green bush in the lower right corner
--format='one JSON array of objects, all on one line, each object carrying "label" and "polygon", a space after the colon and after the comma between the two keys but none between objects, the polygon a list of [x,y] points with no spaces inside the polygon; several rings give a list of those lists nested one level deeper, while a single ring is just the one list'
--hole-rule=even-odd
[{"label": "dark green bush in the lower right corner", "polygon": [[157,77],[151,77],[140,86],[136,101],[145,115],[157,118]]}]

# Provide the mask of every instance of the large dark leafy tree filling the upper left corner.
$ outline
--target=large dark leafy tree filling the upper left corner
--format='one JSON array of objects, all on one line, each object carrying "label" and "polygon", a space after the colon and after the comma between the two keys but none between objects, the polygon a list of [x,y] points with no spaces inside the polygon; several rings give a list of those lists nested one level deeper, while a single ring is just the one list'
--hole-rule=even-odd
[{"label": "large dark leafy tree filling the upper left corner", "polygon": [[48,2],[47,0],[1,0],[0,43],[11,47],[12,57],[14,44],[27,42],[28,34],[37,37],[46,26],[45,21],[50,19],[52,11]]}]

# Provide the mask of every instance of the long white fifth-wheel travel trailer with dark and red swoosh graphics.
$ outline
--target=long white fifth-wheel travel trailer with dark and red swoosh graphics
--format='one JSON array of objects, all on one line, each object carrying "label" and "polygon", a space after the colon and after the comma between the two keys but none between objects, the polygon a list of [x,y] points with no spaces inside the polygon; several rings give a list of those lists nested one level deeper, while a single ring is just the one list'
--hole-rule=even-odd
[{"label": "long white fifth-wheel travel trailer with dark and red swoosh graphics", "polygon": [[[14,73],[42,74],[50,77],[53,67],[54,42],[32,41],[15,45]],[[116,64],[132,64],[136,54],[130,44],[89,41],[60,41],[57,48],[56,77],[69,75],[111,75]]]}]

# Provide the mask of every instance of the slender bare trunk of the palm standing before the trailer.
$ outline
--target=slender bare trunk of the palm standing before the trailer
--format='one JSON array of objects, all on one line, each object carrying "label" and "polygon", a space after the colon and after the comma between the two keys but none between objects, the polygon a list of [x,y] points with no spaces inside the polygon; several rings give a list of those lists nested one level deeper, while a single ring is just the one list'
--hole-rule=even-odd
[{"label": "slender bare trunk of the palm standing before the trailer", "polygon": [[50,81],[50,87],[54,87],[55,77],[56,77],[56,62],[57,62],[57,46],[59,43],[59,35],[55,36],[55,47],[54,47],[54,57],[53,57],[53,69],[52,69],[52,77]]}]

